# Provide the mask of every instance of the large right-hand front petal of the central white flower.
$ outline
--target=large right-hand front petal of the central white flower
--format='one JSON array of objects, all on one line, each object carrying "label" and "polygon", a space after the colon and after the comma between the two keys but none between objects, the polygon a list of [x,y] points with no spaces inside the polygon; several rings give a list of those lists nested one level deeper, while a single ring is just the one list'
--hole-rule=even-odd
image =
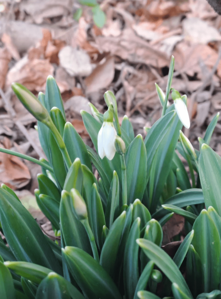
[{"label": "large right-hand front petal of the central white flower", "polygon": [[114,128],[113,123],[106,122],[103,126],[102,131],[102,141],[103,141],[103,149],[105,156],[108,160],[112,160],[114,158],[116,149],[114,146],[115,137],[117,136],[117,132]]}]

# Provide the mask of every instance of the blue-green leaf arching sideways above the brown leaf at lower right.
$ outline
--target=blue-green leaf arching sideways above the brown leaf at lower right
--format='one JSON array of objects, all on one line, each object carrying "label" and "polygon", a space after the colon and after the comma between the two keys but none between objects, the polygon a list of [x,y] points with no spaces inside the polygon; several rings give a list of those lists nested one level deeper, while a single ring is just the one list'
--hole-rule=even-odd
[{"label": "blue-green leaf arching sideways above the brown leaf at lower right", "polygon": [[[190,189],[171,196],[171,198],[169,198],[165,204],[175,205],[179,208],[183,208],[188,205],[197,205],[203,202],[203,191],[201,189]],[[164,208],[159,208],[159,210],[152,215],[152,218],[160,219],[167,213],[169,213],[169,211],[166,211]]]}]

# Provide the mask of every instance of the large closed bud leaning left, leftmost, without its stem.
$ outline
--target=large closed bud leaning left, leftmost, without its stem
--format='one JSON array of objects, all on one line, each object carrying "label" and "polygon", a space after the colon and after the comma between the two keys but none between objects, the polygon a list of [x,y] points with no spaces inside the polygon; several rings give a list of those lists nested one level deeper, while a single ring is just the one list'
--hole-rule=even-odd
[{"label": "large closed bud leaning left, leftmost, without its stem", "polygon": [[49,117],[47,109],[26,87],[20,83],[12,83],[12,89],[23,106],[39,121]]}]

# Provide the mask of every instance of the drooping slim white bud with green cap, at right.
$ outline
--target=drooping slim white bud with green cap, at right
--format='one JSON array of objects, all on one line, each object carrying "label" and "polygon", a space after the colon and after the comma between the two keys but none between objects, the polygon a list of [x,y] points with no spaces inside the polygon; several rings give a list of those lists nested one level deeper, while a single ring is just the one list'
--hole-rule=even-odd
[{"label": "drooping slim white bud with green cap, at right", "polygon": [[180,93],[175,90],[174,88],[172,89],[172,99],[174,100],[174,106],[177,112],[177,115],[181,121],[181,123],[189,129],[190,127],[190,119],[187,111],[186,104],[184,103],[183,99],[180,96]]}]

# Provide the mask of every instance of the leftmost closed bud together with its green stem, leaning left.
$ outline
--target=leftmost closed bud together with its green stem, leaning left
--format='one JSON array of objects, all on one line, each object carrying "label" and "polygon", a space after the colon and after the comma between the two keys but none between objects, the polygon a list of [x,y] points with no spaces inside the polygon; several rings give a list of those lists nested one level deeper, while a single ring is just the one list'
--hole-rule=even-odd
[{"label": "leftmost closed bud together with its green stem, leaning left", "polygon": [[64,161],[68,167],[71,166],[71,159],[68,155],[64,141],[58,132],[58,129],[54,125],[47,109],[41,104],[41,102],[31,93],[26,87],[20,83],[12,83],[12,89],[23,106],[39,121],[44,123],[52,132],[58,147],[61,150]]}]

